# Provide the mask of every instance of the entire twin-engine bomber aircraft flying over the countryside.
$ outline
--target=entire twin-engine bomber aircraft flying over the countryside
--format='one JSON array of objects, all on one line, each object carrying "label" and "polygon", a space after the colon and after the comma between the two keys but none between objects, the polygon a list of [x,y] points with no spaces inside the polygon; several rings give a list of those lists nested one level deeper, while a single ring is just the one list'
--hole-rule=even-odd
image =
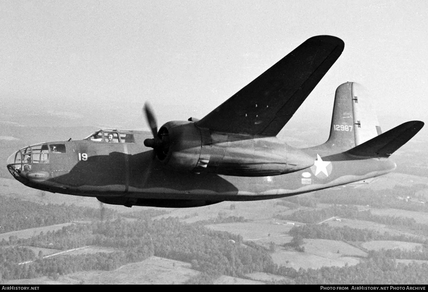
[{"label": "entire twin-engine bomber aircraft flying over the countryside", "polygon": [[296,149],[276,137],[343,48],[333,36],[309,38],[201,120],[158,131],[146,105],[152,133],[100,130],[39,143],[12,154],[7,168],[28,187],[127,207],[273,199],[383,175],[396,167],[389,155],[424,123],[382,133],[357,83],[337,88],[327,142]]}]

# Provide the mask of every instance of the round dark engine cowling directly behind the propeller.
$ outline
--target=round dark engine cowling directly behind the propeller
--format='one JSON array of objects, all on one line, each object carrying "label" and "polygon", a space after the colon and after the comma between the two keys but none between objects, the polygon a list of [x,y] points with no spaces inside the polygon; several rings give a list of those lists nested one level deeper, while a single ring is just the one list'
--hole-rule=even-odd
[{"label": "round dark engine cowling directly behind the propeller", "polygon": [[160,161],[169,169],[197,172],[208,161],[201,155],[202,145],[211,143],[208,130],[200,129],[194,122],[171,121],[160,127],[158,137],[164,144],[156,150]]}]

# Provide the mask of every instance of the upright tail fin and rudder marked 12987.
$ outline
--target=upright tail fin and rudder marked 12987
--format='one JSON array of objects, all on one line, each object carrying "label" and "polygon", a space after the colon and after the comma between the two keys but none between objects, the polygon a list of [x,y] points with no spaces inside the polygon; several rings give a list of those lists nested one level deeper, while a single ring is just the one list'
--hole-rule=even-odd
[{"label": "upright tail fin and rudder marked 12987", "polygon": [[325,146],[347,150],[381,134],[377,115],[366,89],[346,82],[336,89],[330,137]]}]

